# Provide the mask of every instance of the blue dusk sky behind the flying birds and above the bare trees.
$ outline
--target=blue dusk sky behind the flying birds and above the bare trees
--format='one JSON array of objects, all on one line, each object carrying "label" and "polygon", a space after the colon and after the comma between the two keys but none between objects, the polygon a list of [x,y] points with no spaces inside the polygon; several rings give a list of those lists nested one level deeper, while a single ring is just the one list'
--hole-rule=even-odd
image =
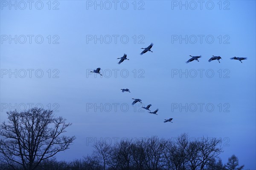
[{"label": "blue dusk sky behind the flying birds and above the bare trees", "polygon": [[[192,9],[195,1],[183,1],[187,9],[180,1],[167,0],[136,1],[136,7],[134,1],[118,1],[116,9],[112,1],[110,9],[104,1],[97,1],[102,9],[95,1],[51,1],[50,9],[47,2],[42,1],[41,10],[41,3],[32,3],[31,9],[26,3],[22,10],[24,4],[16,2],[16,10],[1,0],[1,122],[9,109],[29,108],[30,103],[51,106],[73,123],[67,135],[76,135],[58,159],[81,158],[104,138],[113,142],[188,133],[191,138],[221,138],[224,163],[235,154],[245,169],[256,169],[255,1],[204,1],[202,9],[199,3]],[[9,35],[17,35],[17,43],[9,42]],[[153,52],[139,55],[151,42]],[[124,53],[130,60],[118,65],[116,58]],[[189,55],[202,58],[186,64]],[[212,55],[223,60],[209,63]],[[230,60],[234,56],[248,60]],[[102,77],[87,73],[97,67]],[[9,74],[15,69],[17,78]],[[159,114],[141,112],[138,104],[132,107],[131,98],[152,104]],[[174,123],[164,124],[166,118]]]}]

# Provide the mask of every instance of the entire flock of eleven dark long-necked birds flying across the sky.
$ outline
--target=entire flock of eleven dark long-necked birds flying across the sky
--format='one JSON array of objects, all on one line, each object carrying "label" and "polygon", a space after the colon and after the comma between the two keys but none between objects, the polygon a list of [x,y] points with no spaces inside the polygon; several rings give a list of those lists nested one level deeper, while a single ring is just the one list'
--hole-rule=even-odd
[{"label": "entire flock of eleven dark long-necked birds flying across the sky", "polygon": [[[145,54],[146,52],[152,52],[152,51],[151,51],[151,48],[152,48],[153,45],[154,45],[154,44],[151,43],[147,48],[141,48],[141,49],[144,49],[144,50],[143,50],[143,52],[140,53],[140,55],[143,55],[143,54]],[[202,57],[201,55],[200,55],[200,56],[192,56],[192,55],[189,55],[189,56],[190,56],[191,58],[190,58],[188,61],[186,61],[186,63],[189,63],[189,62],[194,61],[194,60],[195,60],[195,61],[198,61],[198,58],[201,58],[201,57]],[[124,54],[121,58],[117,58],[117,59],[121,59],[121,60],[118,62],[118,64],[122,63],[122,62],[125,61],[125,60],[129,60],[129,59],[127,58],[127,55],[126,55],[126,54]],[[208,61],[211,62],[211,61],[213,61],[213,60],[217,60],[217,61],[220,63],[220,59],[222,60],[222,58],[221,58],[220,56],[214,56],[214,55],[212,55],[212,58],[210,58]],[[230,59],[231,59],[231,60],[238,60],[238,61],[240,61],[240,62],[242,63],[242,60],[246,60],[247,58],[243,58],[243,57],[242,57],[242,58],[240,58],[240,57],[233,57],[233,58],[230,58]],[[100,74],[100,70],[101,70],[101,68],[97,68],[96,70],[93,70],[93,71],[91,71],[91,72]],[[100,74],[100,75],[102,75],[102,74]],[[121,90],[122,90],[122,92],[130,92],[129,89],[121,89]],[[134,104],[136,104],[137,102],[142,103],[141,100],[138,99],[138,98],[132,98],[132,99],[133,99],[134,101],[132,102],[131,105],[134,105]],[[151,114],[157,115],[158,109],[156,109],[154,112],[151,112],[151,110],[149,109],[151,106],[152,106],[151,104],[148,104],[147,107],[142,107],[142,108],[148,110],[149,113],[151,113]],[[173,118],[164,119],[164,120],[165,120],[164,123],[166,123],[166,122],[168,122],[168,121],[169,121],[169,122],[172,122],[172,119],[173,119]]]}]

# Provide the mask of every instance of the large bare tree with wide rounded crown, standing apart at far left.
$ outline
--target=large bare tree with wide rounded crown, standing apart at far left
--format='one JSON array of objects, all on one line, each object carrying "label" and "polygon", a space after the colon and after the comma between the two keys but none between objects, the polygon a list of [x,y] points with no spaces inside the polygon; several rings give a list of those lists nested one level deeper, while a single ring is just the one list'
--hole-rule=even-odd
[{"label": "large bare tree with wide rounded crown, standing apart at far left", "polygon": [[1,161],[13,169],[13,164],[19,164],[23,170],[35,170],[41,161],[69,149],[75,140],[75,136],[62,135],[71,124],[52,111],[32,108],[7,115],[9,120],[0,125],[0,153]]}]

